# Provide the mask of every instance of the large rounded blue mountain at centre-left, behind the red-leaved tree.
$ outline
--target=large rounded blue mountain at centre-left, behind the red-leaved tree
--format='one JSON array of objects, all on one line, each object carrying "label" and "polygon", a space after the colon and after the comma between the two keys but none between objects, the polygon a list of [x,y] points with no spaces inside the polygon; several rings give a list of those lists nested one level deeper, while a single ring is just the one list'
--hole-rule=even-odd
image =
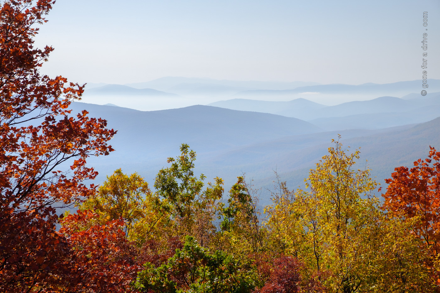
[{"label": "large rounded blue mountain at centre-left, behind the red-leaved tree", "polygon": [[[87,109],[91,117],[103,117],[108,127],[117,129],[110,144],[116,151],[105,157],[90,157],[102,182],[115,169],[139,172],[151,184],[166,158],[179,154],[182,143],[188,143],[198,153],[198,166],[206,157],[253,143],[264,143],[285,136],[321,131],[316,126],[296,118],[244,112],[212,106],[191,106],[161,111],[137,111],[114,106],[73,103],[73,113]],[[243,157],[248,156],[243,154]],[[250,159],[254,159],[252,156]],[[227,184],[241,173],[216,173],[216,166],[198,172],[224,176]],[[220,170],[219,170],[220,171]],[[215,174],[216,175],[213,175]]]}]

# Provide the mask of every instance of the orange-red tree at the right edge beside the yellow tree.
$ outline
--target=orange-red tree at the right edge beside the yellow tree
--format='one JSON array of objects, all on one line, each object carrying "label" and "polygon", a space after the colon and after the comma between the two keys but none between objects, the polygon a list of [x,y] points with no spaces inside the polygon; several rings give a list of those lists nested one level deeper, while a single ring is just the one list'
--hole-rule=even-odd
[{"label": "orange-red tree at the right edge beside the yellow tree", "polygon": [[419,263],[431,270],[432,283],[440,292],[440,152],[430,147],[428,158],[414,161],[411,169],[402,166],[394,171],[385,180],[383,209],[396,221],[411,223],[411,233],[423,240],[426,256]]}]

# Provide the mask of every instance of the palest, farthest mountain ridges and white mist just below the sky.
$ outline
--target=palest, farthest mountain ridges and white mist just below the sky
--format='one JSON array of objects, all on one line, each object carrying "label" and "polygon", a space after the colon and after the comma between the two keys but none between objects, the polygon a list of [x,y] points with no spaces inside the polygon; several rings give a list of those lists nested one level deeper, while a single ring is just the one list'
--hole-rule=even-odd
[{"label": "palest, farthest mountain ridges and white mist just below the sky", "polygon": [[[427,97],[433,92],[440,92],[440,80],[429,79],[428,84],[429,94]],[[405,96],[405,99],[413,99],[414,96],[411,97],[411,95],[419,93],[422,89],[421,85],[422,80],[390,84],[351,85],[317,84],[301,81],[220,81],[207,78],[163,77],[154,81],[125,85],[87,84],[84,92],[84,102],[113,103],[137,110],[162,110],[195,104],[207,105],[234,98],[285,102],[303,98],[315,103],[335,106],[344,102],[364,101],[380,96]],[[108,97],[108,100],[105,99],[106,97]],[[140,97],[159,97],[160,99],[153,102],[147,99],[139,99]],[[288,106],[288,108],[291,109],[292,107]],[[271,110],[271,112],[274,112],[274,110]],[[276,114],[292,116],[288,111],[282,110]],[[307,118],[303,116],[301,118],[315,119],[319,117],[321,116]]]}]

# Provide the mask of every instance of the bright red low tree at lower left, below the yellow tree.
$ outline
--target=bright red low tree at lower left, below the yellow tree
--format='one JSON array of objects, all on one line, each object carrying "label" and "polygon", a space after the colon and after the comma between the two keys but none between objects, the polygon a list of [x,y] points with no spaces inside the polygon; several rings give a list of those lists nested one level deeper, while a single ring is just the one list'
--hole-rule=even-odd
[{"label": "bright red low tree at lower left, below the yellow tree", "polygon": [[[58,290],[54,291],[136,292],[130,285],[144,260],[139,257],[139,247],[125,238],[124,226],[122,219],[102,225],[99,215],[90,210],[66,216],[60,233],[68,239],[70,257],[62,264],[70,273],[58,276],[61,286],[57,284]],[[44,290],[48,291],[47,287]]]}]

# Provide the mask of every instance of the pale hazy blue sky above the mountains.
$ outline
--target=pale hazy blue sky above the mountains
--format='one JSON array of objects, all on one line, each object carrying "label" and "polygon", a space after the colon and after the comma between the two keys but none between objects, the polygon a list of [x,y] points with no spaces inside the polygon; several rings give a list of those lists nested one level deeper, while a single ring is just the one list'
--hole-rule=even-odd
[{"label": "pale hazy blue sky above the mountains", "polygon": [[440,79],[440,0],[57,0],[46,19],[43,72],[75,82],[389,83],[421,79],[422,58]]}]

